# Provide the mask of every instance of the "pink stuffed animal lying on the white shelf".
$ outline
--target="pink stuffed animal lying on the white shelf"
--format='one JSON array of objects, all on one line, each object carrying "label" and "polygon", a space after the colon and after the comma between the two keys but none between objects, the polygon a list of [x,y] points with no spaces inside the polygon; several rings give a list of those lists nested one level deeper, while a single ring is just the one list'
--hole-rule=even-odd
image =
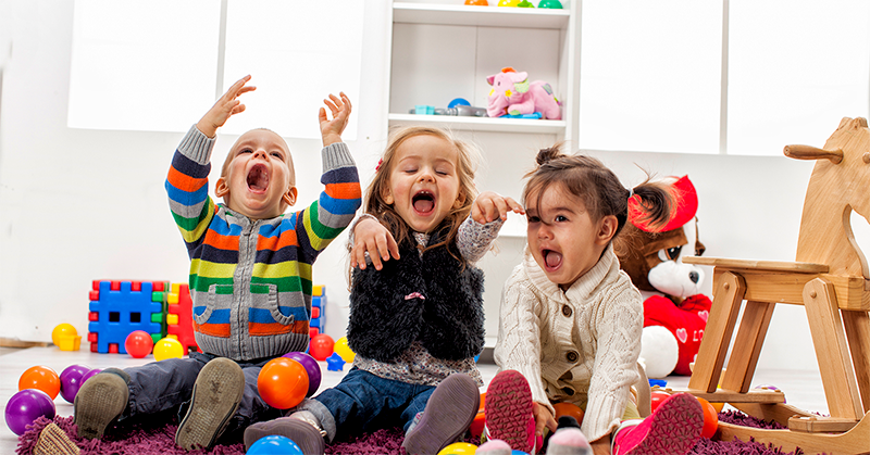
[{"label": "pink stuffed animal lying on the white shelf", "polygon": [[489,105],[486,108],[490,117],[539,112],[544,118],[562,118],[560,103],[552,94],[550,85],[543,80],[530,83],[525,72],[517,73],[507,67],[501,73],[487,77],[486,81],[493,86],[489,90]]}]

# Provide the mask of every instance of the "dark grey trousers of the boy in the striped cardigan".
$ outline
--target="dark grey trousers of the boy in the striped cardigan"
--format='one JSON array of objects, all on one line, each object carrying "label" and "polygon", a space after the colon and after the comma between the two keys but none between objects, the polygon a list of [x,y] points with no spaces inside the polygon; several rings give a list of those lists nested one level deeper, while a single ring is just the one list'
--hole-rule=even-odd
[{"label": "dark grey trousers of the boy in the striped cardigan", "polygon": [[[194,391],[194,383],[202,367],[216,356],[191,352],[187,358],[166,358],[138,367],[125,368],[129,377],[129,404],[119,420],[177,409],[184,417]],[[248,425],[279,416],[257,391],[260,368],[269,359],[256,363],[236,362],[245,374],[245,391],[236,415],[224,433],[244,430]]]}]

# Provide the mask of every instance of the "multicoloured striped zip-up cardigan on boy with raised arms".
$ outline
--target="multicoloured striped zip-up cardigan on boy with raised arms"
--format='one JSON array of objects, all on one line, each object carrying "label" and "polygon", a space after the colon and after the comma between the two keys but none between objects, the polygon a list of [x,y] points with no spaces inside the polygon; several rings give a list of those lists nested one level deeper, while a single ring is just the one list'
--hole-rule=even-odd
[{"label": "multicoloured striped zip-up cardigan on boy with raised arms", "polygon": [[213,138],[191,127],[165,184],[190,256],[197,344],[236,361],[304,351],[311,265],[361,203],[353,159],[345,143],[325,147],[319,201],[296,213],[250,219],[209,197],[213,147]]}]

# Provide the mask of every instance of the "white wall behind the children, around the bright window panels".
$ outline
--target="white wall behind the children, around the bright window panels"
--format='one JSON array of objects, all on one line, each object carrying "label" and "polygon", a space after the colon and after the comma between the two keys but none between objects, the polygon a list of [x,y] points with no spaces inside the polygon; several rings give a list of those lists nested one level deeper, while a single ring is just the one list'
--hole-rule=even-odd
[{"label": "white wall behind the children, around the bright window panels", "polygon": [[[363,185],[385,143],[389,76],[386,2],[370,3],[364,84],[361,93],[351,93],[360,125],[359,140],[350,148]],[[64,0],[0,0],[0,45],[3,39],[13,42],[3,68],[0,104],[2,337],[49,340],[51,329],[61,323],[73,324],[84,334],[94,279],[184,282],[187,278],[187,256],[163,190],[182,135],[66,127],[72,9],[72,2]],[[202,112],[208,108],[203,105]],[[830,131],[838,121],[831,118]],[[519,197],[520,177],[532,166],[535,150],[517,150],[511,136],[480,135],[490,157],[506,154],[504,160],[490,159],[480,180],[482,189]],[[820,147],[825,139],[820,137],[812,144]],[[223,161],[234,140],[219,137],[215,162]],[[547,146],[547,140],[534,146]],[[321,188],[319,141],[289,140],[289,144],[300,201],[310,201]],[[638,165],[659,176],[687,174],[698,189],[700,238],[707,255],[794,258],[811,163],[785,157],[592,153],[612,166],[625,185],[643,179]],[[326,332],[334,338],[344,334],[347,324],[345,239],[336,240],[314,266],[314,281],[327,286]],[[519,263],[522,243],[500,240],[498,256],[483,263],[488,274],[489,336],[495,336],[497,295]],[[708,294],[710,289],[708,279]],[[776,308],[761,362],[766,367],[816,368],[803,307]]]}]

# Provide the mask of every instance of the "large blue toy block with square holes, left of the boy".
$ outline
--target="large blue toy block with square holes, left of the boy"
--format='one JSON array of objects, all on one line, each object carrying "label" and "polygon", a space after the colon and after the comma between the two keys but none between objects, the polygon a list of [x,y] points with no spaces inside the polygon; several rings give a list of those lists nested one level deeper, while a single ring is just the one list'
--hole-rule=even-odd
[{"label": "large blue toy block with square holes, left of the boy", "polygon": [[88,324],[88,331],[96,336],[96,352],[114,352],[110,349],[114,344],[119,353],[126,354],[124,342],[134,330],[162,332],[161,323],[153,323],[152,315],[163,313],[163,303],[154,302],[152,293],[151,282],[142,282],[141,289],[133,291],[130,281],[121,281],[117,290],[112,290],[112,281],[100,281],[98,300],[88,305],[91,315],[96,314]]}]

